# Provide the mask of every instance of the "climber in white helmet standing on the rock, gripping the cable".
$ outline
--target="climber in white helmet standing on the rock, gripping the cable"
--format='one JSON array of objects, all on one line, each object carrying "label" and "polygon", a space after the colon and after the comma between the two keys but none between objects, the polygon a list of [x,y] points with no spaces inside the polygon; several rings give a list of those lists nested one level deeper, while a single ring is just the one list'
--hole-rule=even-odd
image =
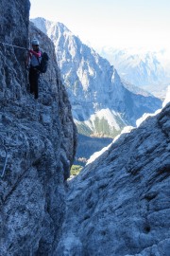
[{"label": "climber in white helmet standing on the rock, gripping the cable", "polygon": [[32,48],[33,49],[28,50],[26,66],[29,69],[30,93],[34,95],[35,99],[38,99],[40,78],[39,66],[42,60],[42,52],[39,48],[39,41],[37,39],[32,40]]}]

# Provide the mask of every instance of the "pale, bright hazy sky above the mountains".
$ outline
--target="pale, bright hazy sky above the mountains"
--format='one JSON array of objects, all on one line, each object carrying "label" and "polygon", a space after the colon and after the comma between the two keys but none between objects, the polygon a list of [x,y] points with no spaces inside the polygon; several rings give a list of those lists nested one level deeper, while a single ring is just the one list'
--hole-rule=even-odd
[{"label": "pale, bright hazy sky above the mountains", "polygon": [[91,46],[170,47],[170,0],[30,0],[30,18],[68,27]]}]

